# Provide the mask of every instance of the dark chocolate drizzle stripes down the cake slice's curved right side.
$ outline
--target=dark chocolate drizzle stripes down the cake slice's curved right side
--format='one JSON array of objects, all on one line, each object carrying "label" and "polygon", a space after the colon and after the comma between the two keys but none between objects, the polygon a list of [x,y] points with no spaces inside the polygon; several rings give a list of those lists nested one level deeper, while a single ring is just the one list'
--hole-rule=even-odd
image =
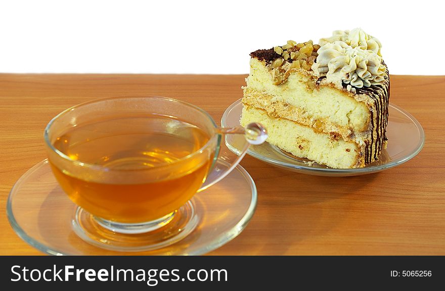
[{"label": "dark chocolate drizzle stripes down the cake slice's curved right side", "polygon": [[[371,87],[355,88],[357,94],[366,94],[372,100],[371,113],[371,142],[366,143],[365,165],[378,161],[386,138],[386,125],[388,124],[389,105],[389,72],[386,70],[381,84]],[[374,121],[374,114],[377,117]]]}]

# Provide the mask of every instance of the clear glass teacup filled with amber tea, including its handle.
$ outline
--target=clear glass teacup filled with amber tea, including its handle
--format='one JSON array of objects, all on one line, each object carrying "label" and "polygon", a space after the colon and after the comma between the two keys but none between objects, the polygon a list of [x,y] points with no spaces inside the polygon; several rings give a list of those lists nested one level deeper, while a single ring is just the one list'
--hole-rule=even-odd
[{"label": "clear glass teacup filled with amber tea, including its handle", "polygon": [[[222,129],[202,109],[159,96],[83,103],[44,132],[53,173],[78,206],[74,231],[122,251],[187,236],[199,223],[195,193],[224,178],[250,143],[266,137],[257,123]],[[227,150],[226,138],[236,138],[236,148]]]}]

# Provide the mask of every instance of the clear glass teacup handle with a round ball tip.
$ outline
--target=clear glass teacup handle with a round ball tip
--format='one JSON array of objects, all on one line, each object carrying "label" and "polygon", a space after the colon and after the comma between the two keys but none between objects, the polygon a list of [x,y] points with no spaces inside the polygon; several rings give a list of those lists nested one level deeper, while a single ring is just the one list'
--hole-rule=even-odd
[{"label": "clear glass teacup handle with a round ball tip", "polygon": [[198,192],[226,177],[240,163],[251,144],[261,144],[268,138],[266,129],[256,122],[246,127],[219,127],[216,134],[218,138],[213,165]]}]

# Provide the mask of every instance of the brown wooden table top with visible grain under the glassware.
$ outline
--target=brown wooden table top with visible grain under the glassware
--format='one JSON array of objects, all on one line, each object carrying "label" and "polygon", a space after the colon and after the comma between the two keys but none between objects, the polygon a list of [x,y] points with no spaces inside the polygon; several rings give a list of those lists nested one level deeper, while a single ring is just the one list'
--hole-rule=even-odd
[{"label": "brown wooden table top with visible grain under the glassware", "polygon": [[[6,217],[15,181],[46,158],[43,128],[62,110],[109,96],[163,95],[219,122],[245,75],[0,74],[0,255],[39,255]],[[318,177],[250,156],[258,188],[247,228],[211,255],[445,255],[445,76],[391,76],[390,101],[422,124],[420,154],[365,176]]]}]

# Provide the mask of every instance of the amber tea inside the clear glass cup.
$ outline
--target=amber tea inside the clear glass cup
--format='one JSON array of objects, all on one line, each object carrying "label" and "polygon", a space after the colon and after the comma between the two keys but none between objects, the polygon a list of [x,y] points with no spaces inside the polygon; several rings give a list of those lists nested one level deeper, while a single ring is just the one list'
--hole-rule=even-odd
[{"label": "amber tea inside the clear glass cup", "polygon": [[[161,115],[98,120],[71,128],[53,146],[103,170],[78,176],[52,168],[70,199],[86,211],[121,223],[150,221],[179,209],[202,185],[213,156],[189,155],[209,138],[197,126]],[[110,179],[107,171],[117,174]]]}]

